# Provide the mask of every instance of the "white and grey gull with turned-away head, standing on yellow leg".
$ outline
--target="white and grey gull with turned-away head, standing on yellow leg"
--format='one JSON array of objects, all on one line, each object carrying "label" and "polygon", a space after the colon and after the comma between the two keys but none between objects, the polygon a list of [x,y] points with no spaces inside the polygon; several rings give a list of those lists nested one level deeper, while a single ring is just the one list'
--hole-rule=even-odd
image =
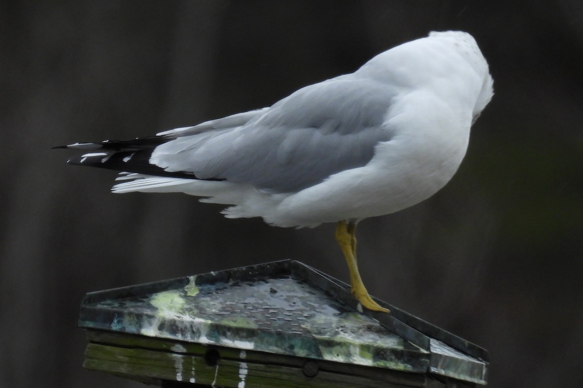
[{"label": "white and grey gull with turned-away head, standing on yellow leg", "polygon": [[431,32],[268,108],[156,136],[61,148],[91,150],[69,159],[73,165],[120,171],[114,193],[191,194],[229,205],[227,218],[261,217],[281,227],[336,223],[359,308],[388,312],[360,277],[357,223],[444,187],[492,95],[472,35]]}]

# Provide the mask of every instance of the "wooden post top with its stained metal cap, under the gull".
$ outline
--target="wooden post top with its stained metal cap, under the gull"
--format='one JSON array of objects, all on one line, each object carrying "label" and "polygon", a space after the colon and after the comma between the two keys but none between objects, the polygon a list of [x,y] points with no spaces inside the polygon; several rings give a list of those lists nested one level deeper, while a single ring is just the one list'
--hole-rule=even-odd
[{"label": "wooden post top with its stained metal cap, under the gull", "polygon": [[[87,294],[85,368],[163,387],[473,387],[487,352],[279,261]],[[361,310],[361,309],[360,309]]]}]

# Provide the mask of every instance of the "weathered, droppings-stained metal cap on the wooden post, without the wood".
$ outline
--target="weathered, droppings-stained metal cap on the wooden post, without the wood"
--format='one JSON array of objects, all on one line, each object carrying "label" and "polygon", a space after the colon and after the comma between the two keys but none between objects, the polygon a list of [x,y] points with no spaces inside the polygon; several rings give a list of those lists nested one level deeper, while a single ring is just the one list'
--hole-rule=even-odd
[{"label": "weathered, droppings-stained metal cap on the wooden post, without the wood", "polygon": [[278,261],[89,293],[79,326],[486,383],[485,350],[380,300],[391,314],[363,312],[349,289]]}]

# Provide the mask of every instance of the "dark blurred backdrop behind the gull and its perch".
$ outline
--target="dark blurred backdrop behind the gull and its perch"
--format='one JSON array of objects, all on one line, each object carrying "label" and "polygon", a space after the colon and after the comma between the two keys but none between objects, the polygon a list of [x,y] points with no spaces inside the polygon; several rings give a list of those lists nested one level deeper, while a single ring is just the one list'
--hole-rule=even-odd
[{"label": "dark blurred backdrop behind the gull and its perch", "polygon": [[430,200],[359,227],[372,294],[490,351],[492,387],[581,387],[583,2],[0,3],[0,386],[140,387],[82,369],[89,291],[298,259],[347,280],[333,225],[110,193],[55,145],[269,106],[430,30],[474,35],[496,95]]}]

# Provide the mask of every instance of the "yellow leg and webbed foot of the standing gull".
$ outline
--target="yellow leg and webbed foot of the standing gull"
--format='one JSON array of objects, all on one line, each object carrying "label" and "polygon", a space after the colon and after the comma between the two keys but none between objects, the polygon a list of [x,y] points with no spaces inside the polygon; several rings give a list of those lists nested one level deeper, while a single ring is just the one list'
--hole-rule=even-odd
[{"label": "yellow leg and webbed foot of the standing gull", "polygon": [[388,309],[381,307],[375,302],[370,295],[364,283],[360,278],[359,268],[356,263],[356,222],[339,221],[336,224],[336,241],[346,259],[348,270],[350,272],[350,292],[356,297],[363,307],[369,310],[389,312]]}]

